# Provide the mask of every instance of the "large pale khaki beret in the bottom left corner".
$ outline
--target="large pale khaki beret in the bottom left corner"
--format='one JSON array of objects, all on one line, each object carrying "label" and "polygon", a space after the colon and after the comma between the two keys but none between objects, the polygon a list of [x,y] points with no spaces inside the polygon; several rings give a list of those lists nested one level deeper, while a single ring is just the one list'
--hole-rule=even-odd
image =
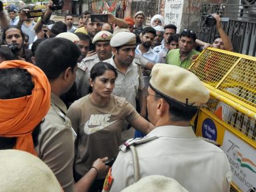
[{"label": "large pale khaki beret in the bottom left corner", "polygon": [[35,155],[0,150],[0,191],[62,191],[52,170]]}]

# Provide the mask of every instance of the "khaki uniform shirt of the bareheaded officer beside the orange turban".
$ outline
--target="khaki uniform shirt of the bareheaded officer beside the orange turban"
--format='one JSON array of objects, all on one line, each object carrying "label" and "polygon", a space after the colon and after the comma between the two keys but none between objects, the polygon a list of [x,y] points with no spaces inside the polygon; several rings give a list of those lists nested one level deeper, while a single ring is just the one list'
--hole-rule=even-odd
[{"label": "khaki uniform shirt of the bareheaded officer beside the orange turban", "polygon": [[38,157],[54,172],[66,192],[74,191],[73,163],[75,133],[71,121],[66,117],[66,105],[51,93],[51,107],[41,123]]}]

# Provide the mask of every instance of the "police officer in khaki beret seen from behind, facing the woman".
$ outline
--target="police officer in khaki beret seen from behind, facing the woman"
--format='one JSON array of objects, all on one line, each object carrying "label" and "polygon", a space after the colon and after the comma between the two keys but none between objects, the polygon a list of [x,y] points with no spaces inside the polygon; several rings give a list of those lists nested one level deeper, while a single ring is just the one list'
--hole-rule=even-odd
[{"label": "police officer in khaki beret seen from behind, facing the woman", "polygon": [[156,64],[148,93],[148,119],[155,128],[119,147],[107,176],[112,186],[106,183],[105,191],[122,191],[150,175],[175,179],[190,192],[229,191],[232,172],[226,154],[197,138],[190,126],[199,105],[209,99],[204,84],[179,66]]}]

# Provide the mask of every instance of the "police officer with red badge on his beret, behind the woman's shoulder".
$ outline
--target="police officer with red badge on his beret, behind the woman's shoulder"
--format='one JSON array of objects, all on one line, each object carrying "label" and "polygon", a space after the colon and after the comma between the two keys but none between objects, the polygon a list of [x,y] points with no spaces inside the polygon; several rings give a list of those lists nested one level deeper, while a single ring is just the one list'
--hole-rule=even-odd
[{"label": "police officer with red badge on his beret, behind the woman's shoulder", "polygon": [[79,98],[88,94],[91,68],[93,68],[96,63],[112,57],[112,47],[110,46],[112,36],[113,35],[107,30],[98,32],[98,34],[93,37],[92,41],[92,43],[95,44],[96,54],[85,57],[81,63],[78,63],[76,87]]}]

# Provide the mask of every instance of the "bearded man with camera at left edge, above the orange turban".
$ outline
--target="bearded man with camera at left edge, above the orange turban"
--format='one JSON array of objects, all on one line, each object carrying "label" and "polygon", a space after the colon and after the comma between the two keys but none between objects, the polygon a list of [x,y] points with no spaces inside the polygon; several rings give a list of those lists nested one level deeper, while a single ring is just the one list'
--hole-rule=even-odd
[{"label": "bearded man with camera at left edge, above the orange turban", "polygon": [[6,27],[2,33],[2,43],[9,46],[16,59],[32,63],[32,52],[30,49],[24,49],[24,34],[19,27]]}]

